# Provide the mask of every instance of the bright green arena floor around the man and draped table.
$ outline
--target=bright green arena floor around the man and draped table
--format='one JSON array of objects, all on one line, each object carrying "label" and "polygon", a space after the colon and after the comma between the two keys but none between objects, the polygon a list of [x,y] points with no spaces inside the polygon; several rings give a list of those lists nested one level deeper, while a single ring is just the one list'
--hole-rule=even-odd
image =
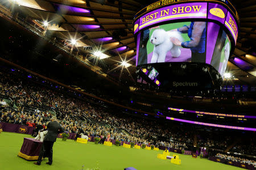
[{"label": "bright green arena floor around the man and draped table", "polygon": [[[124,169],[134,167],[142,169],[242,169],[211,162],[207,159],[194,159],[191,155],[179,155],[181,165],[170,163],[170,160],[156,158],[162,151],[137,150],[117,146],[95,145],[92,142],[81,144],[72,140],[57,142],[53,146],[53,164],[47,165],[48,159],[40,166],[19,158],[18,152],[23,143],[23,137],[31,135],[6,133],[0,134],[0,169]],[[171,154],[172,155],[172,154]]]}]

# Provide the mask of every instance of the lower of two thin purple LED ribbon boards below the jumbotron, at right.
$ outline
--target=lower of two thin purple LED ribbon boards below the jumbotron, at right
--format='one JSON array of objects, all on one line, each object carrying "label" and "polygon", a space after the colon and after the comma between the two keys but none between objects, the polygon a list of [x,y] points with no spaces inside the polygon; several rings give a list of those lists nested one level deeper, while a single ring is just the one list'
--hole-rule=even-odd
[{"label": "lower of two thin purple LED ribbon boards below the jumbotron, at right", "polygon": [[204,126],[213,126],[213,127],[216,127],[216,128],[227,128],[227,129],[237,129],[237,130],[256,131],[256,128],[245,128],[245,127],[239,127],[239,126],[209,124],[209,123],[204,123],[204,122],[196,122],[196,121],[183,120],[183,119],[174,118],[174,117],[166,117],[166,119],[168,119],[168,120],[173,120],[173,121],[179,121],[179,122],[185,122],[185,123],[188,123],[188,124],[196,124],[196,125],[204,125]]}]

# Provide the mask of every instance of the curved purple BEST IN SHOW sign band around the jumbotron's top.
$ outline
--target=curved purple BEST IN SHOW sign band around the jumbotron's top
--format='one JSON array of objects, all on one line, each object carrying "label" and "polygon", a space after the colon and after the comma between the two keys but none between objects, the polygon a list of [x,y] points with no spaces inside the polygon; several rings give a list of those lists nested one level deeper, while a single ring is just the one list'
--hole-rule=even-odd
[{"label": "curved purple BEST IN SHOW sign band around the jumbotron's top", "polygon": [[[222,1],[220,1],[222,2]],[[225,24],[233,39],[237,41],[239,20],[237,11],[229,1],[226,3],[191,2],[187,1],[158,1],[146,7],[146,11],[141,11],[135,15],[134,34],[150,25],[177,19],[212,19]],[[229,5],[229,6],[226,6]],[[162,7],[163,6],[163,7]],[[155,9],[155,10],[154,10]],[[146,13],[146,14],[145,14]]]}]

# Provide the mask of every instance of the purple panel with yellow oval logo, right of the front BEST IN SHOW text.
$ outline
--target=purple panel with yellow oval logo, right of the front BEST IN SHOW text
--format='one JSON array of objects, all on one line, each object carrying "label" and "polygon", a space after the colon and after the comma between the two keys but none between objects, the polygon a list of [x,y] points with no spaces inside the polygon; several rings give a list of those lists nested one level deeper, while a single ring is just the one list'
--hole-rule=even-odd
[{"label": "purple panel with yellow oval logo, right of the front BEST IN SHOW text", "polygon": [[208,19],[214,19],[224,24],[228,10],[217,3],[208,3]]}]

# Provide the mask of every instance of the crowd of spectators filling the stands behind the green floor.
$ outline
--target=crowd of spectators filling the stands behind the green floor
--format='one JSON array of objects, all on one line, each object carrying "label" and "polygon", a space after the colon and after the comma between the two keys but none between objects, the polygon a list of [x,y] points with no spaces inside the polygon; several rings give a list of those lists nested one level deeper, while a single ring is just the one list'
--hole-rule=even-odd
[{"label": "crowd of spectators filling the stands behind the green floor", "polygon": [[[153,144],[179,150],[190,150],[195,145],[195,134],[192,127],[164,126],[146,118],[110,113],[107,109],[60,90],[41,86],[21,78],[13,77],[9,73],[0,72],[0,95],[10,97],[8,105],[1,100],[0,121],[28,126],[46,126],[52,113],[55,112],[60,124],[69,133],[84,133],[105,139],[110,134],[110,139],[135,143]],[[61,87],[59,87],[61,88]],[[27,108],[39,107],[34,111]],[[40,111],[45,106],[46,111]],[[199,138],[198,146],[218,148],[225,150],[226,141],[230,139],[213,140]],[[235,146],[236,147],[236,146]],[[240,149],[242,146],[236,147]],[[236,150],[236,151],[237,151]],[[242,150],[242,149],[241,149]],[[245,153],[246,154],[246,153]]]}]

